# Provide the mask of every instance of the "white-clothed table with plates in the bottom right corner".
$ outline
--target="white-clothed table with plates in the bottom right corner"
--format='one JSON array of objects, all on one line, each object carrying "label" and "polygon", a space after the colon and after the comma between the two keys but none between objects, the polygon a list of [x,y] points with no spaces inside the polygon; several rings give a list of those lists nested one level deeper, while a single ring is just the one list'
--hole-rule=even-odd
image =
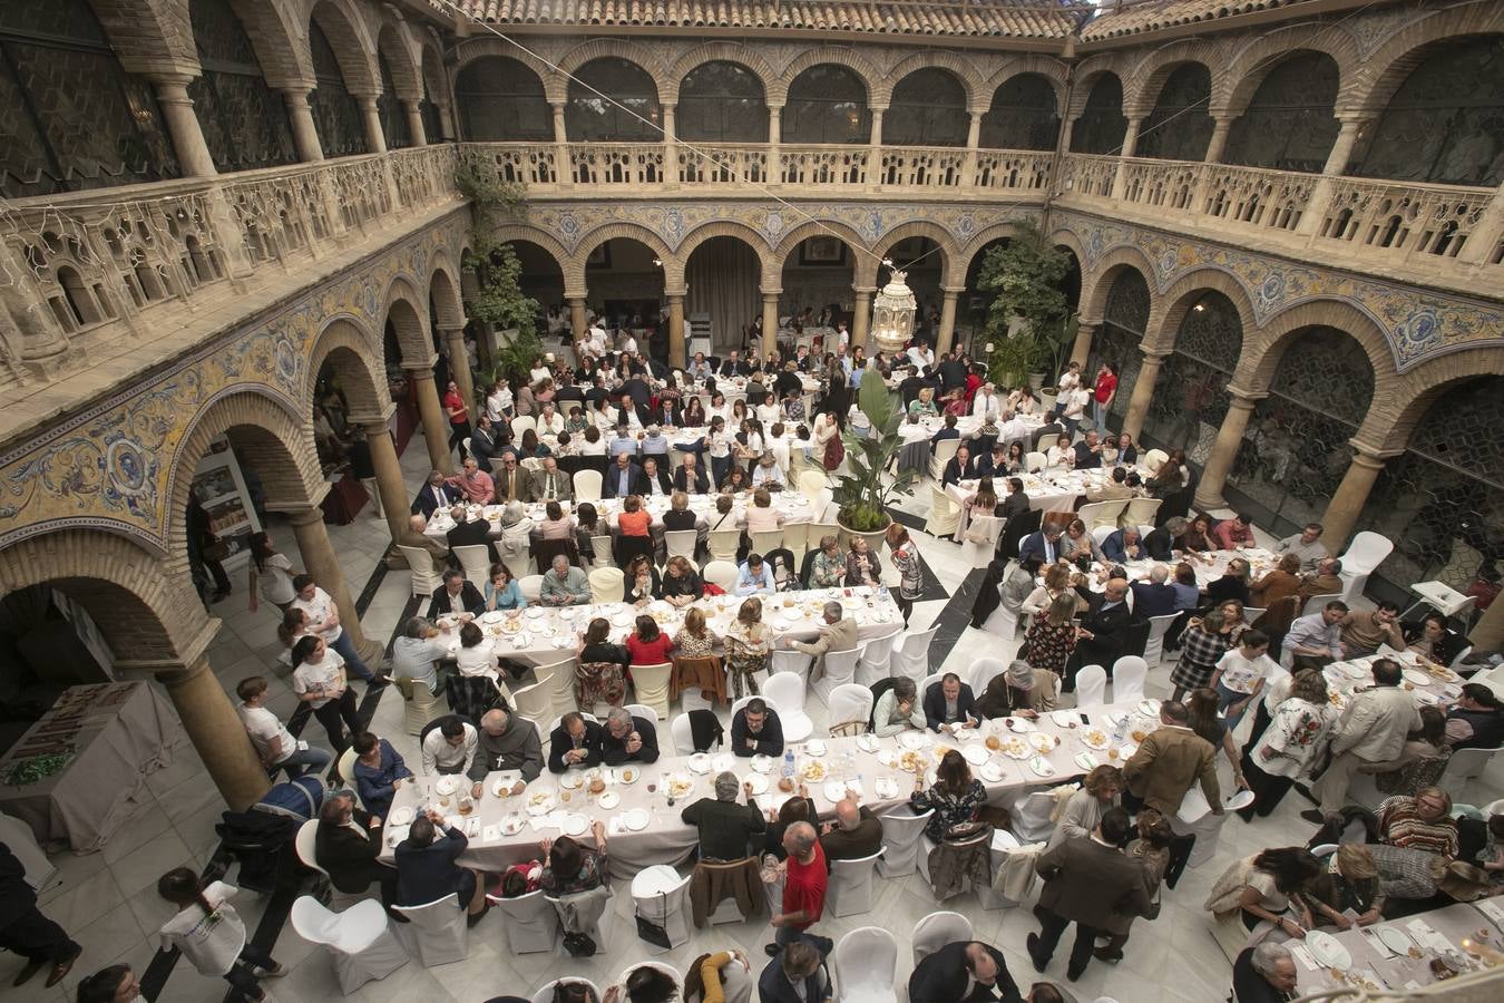
[{"label": "white-clothed table with plates in the bottom right corner", "polygon": [[1340,965],[1321,964],[1308,937],[1304,943],[1286,941],[1295,955],[1296,992],[1301,997],[1355,988],[1414,992],[1438,982],[1433,965],[1450,977],[1487,967],[1483,958],[1492,958],[1495,967],[1504,962],[1504,896],[1457,902],[1373,926],[1324,932],[1346,952],[1346,958],[1325,958],[1340,961]]}]

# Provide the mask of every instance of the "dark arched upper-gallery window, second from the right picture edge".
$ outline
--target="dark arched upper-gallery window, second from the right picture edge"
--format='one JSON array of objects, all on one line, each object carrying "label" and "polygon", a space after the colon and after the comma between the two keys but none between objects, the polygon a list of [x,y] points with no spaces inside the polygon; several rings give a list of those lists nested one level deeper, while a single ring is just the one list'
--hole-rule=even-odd
[{"label": "dark arched upper-gallery window, second from the right picture edge", "polygon": [[1337,138],[1337,62],[1296,53],[1269,71],[1227,132],[1223,161],[1319,173]]}]

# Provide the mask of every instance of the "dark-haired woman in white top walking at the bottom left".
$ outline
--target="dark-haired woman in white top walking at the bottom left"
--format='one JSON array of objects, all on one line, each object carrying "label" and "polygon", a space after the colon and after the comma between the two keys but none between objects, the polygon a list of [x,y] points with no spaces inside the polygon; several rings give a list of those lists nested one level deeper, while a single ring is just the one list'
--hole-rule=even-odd
[{"label": "dark-haired woman in white top walking at the bottom left", "polygon": [[200,974],[221,976],[259,1003],[266,991],[257,979],[277,979],[287,970],[245,938],[245,922],[229,902],[238,890],[224,881],[202,886],[188,868],[173,868],[158,878],[156,893],[182,911],[158,935],[162,950],[176,947]]}]

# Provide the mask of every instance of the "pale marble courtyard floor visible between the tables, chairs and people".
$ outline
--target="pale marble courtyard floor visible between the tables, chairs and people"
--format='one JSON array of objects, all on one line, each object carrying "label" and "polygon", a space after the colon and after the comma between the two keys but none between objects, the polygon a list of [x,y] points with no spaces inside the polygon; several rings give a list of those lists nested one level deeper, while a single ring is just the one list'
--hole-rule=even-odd
[{"label": "pale marble courtyard floor visible between the tables, chairs and people", "polygon": [[[421,439],[415,439],[408,448],[403,469],[409,489],[417,490],[427,472]],[[901,499],[899,508],[922,517],[928,508],[926,498],[928,492],[920,492],[916,498]],[[298,550],[290,529],[284,523],[274,522],[271,532],[277,546],[293,556],[293,564],[298,565]],[[387,549],[390,537],[385,522],[367,510],[347,526],[329,526],[329,535],[340,555],[350,592],[359,594]],[[972,571],[963,559],[961,547],[922,532],[916,532],[914,538],[938,582],[938,588],[932,591],[954,595]],[[406,571],[382,576],[362,611],[361,623],[367,636],[390,639],[408,598]],[[943,627],[931,648],[932,668],[963,669],[978,657],[1012,656],[1017,642],[972,629],[967,626],[969,612],[969,600],[948,606],[946,598],[934,598],[914,606],[911,629],[926,629],[937,620]],[[284,719],[289,717],[296,701],[278,674],[275,608],[263,606],[260,612],[250,612],[245,583],[238,580],[235,594],[217,606],[215,614],[223,618],[223,626],[209,654],[215,674],[226,689],[232,690],[232,699],[238,680],[265,674],[272,678],[268,705]],[[1167,695],[1169,672],[1169,665],[1151,672],[1148,684],[1151,695]],[[808,710],[817,728],[826,723],[824,708],[818,701],[811,701]],[[400,695],[388,689],[376,702],[371,728],[390,738],[409,764],[415,764],[417,743],[403,732],[402,719]],[[322,728],[314,723],[304,737],[322,743]],[[1229,767],[1221,758],[1218,762],[1227,786]],[[1486,805],[1501,792],[1504,792],[1504,767],[1495,762],[1459,800]],[[137,800],[135,814],[102,853],[90,856],[60,853],[53,857],[57,877],[42,893],[42,908],[83,944],[84,953],[74,971],[54,989],[44,989],[41,977],[23,989],[11,989],[9,982],[20,962],[14,955],[0,955],[0,986],[6,986],[3,991],[6,1000],[72,998],[80,977],[108,964],[131,964],[138,974],[147,970],[156,952],[156,929],[170,914],[170,908],[155,893],[155,881],[173,866],[203,869],[208,865],[217,847],[214,824],[220,818],[223,803],[191,750],[182,753],[171,767],[152,776]],[[951,899],[937,907],[928,886],[917,875],[902,880],[880,878],[872,913],[824,919],[817,931],[833,938],[871,925],[892,931],[899,941],[896,985],[904,986],[911,970],[908,931],[928,913],[948,908],[964,913],[970,917],[978,938],[1002,949],[1014,979],[1026,992],[1032,982],[1048,979],[1068,988],[1083,1001],[1105,995],[1119,1003],[1212,1003],[1227,995],[1230,965],[1211,937],[1202,902],[1212,881],[1236,857],[1265,847],[1305,842],[1311,835],[1311,826],[1298,817],[1304,808],[1307,805],[1302,798],[1290,794],[1266,820],[1244,824],[1232,818],[1223,829],[1215,857],[1200,868],[1187,871],[1179,887],[1166,890],[1158,919],[1140,920],[1134,926],[1126,958],[1117,965],[1093,962],[1075,985],[1065,982],[1063,950],[1057,953],[1044,976],[1036,976],[1033,971],[1024,950],[1024,938],[1038,925],[1027,908],[985,911],[975,896]],[[235,881],[233,869],[227,880]],[[235,904],[247,926],[254,929],[266,905],[262,896],[242,892]],[[766,964],[763,944],[770,940],[766,922],[729,923],[693,931],[690,941],[683,947],[666,955],[650,955],[647,944],[636,937],[632,898],[626,887],[618,889],[614,910],[618,922],[609,926],[603,950],[596,958],[570,959],[562,950],[556,955],[511,956],[505,946],[502,920],[498,914],[492,914],[471,932],[469,956],[463,962],[424,968],[411,961],[390,977],[365,985],[355,998],[373,1003],[390,1000],[480,1003],[505,992],[531,995],[534,988],[564,971],[587,976],[605,986],[624,968],[642,959],[666,961],[683,971],[684,965],[699,953],[729,947],[743,949],[757,970]],[[1074,934],[1068,934],[1071,935]],[[275,998],[338,997],[329,958],[322,949],[299,938],[290,925],[280,931],[274,953],[290,967],[286,979],[268,983]],[[224,992],[223,982],[200,976],[191,965],[177,962],[155,998],[170,1003],[206,1001],[224,998]],[[899,998],[905,998],[902,988]]]}]

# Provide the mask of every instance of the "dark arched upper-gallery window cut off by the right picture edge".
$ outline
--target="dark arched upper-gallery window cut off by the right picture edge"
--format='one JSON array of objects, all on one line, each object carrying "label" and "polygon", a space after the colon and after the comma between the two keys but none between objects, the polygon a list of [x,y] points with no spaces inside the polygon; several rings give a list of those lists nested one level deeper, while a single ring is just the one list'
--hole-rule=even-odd
[{"label": "dark arched upper-gallery window cut off by the right picture edge", "polygon": [[1504,180],[1504,35],[1432,48],[1364,132],[1354,164],[1360,177]]}]

